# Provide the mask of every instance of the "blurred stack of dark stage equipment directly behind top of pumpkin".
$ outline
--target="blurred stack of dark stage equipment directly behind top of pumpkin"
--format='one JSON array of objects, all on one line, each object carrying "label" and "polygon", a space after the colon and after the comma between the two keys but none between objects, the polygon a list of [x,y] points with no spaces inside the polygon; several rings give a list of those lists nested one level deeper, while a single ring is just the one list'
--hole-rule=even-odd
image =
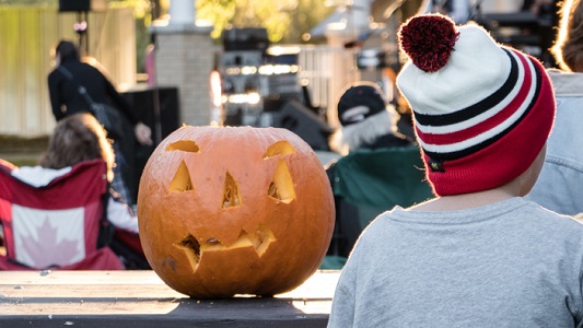
[{"label": "blurred stack of dark stage equipment directly behind top of pumpkin", "polygon": [[329,150],[324,110],[299,79],[300,48],[270,47],[264,28],[231,28],[219,58],[225,126],[287,128],[314,150]]}]

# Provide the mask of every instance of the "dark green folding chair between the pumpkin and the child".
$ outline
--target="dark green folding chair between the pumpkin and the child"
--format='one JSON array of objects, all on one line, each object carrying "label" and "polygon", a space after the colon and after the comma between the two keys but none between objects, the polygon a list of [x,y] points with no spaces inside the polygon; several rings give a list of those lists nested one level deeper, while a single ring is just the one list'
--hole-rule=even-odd
[{"label": "dark green folding chair between the pumpkin and the child", "polygon": [[327,173],[336,202],[329,255],[348,256],[361,232],[384,211],[433,198],[417,147],[357,150]]}]

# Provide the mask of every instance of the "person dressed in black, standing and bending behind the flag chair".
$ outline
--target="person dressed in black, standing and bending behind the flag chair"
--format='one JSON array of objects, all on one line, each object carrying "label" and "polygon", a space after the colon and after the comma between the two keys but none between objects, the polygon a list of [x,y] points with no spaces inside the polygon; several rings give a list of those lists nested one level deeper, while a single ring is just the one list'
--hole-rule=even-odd
[{"label": "person dressed in black, standing and bending behind the flag chair", "polygon": [[[79,93],[82,85],[95,103],[108,103],[120,110],[133,125],[136,140],[141,144],[152,144],[151,129],[139,121],[133,115],[129,104],[119,95],[115,86],[97,68],[80,60],[77,46],[69,40],[61,40],[55,49],[56,69],[48,74],[48,91],[53,114],[57,121],[73,114],[92,113],[91,105]],[[59,67],[65,68],[71,80]],[[109,136],[114,139],[114,151],[117,164],[114,167],[113,187],[120,194],[125,201],[130,201],[129,190],[123,179],[124,156],[119,149],[120,137]],[[117,140],[116,140],[117,139]]]}]

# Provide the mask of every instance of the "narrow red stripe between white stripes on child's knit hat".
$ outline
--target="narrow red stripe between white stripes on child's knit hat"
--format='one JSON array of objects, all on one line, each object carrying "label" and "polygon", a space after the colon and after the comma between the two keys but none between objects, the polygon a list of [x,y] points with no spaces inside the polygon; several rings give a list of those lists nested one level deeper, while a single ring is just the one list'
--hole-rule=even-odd
[{"label": "narrow red stripe between white stripes on child's knit hat", "polygon": [[[529,69],[528,63],[526,62],[526,59],[523,56],[518,56],[518,58],[521,60],[522,67],[525,72],[524,83],[521,85],[521,90],[518,91],[516,96],[510,102],[510,104],[506,107],[504,107],[502,110],[497,113],[494,116],[475,126],[463,129],[463,130],[454,131],[451,133],[423,133],[421,130],[419,130],[416,127],[417,136],[427,144],[446,145],[446,144],[462,142],[470,138],[474,138],[476,136],[479,136],[481,133],[486,133],[490,131],[491,129],[493,129],[494,127],[501,125],[506,119],[509,119],[518,109],[518,107],[524,104],[528,95],[528,92],[530,91],[533,86],[533,72]],[[494,136],[490,136],[487,139],[490,139],[491,137],[494,137]],[[473,145],[475,144],[471,144],[469,147],[473,147]]]}]

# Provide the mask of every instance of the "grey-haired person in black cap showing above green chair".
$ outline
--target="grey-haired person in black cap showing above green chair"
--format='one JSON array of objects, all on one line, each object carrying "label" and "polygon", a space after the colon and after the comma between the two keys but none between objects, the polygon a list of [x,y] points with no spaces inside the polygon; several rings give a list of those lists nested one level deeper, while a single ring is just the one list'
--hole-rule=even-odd
[{"label": "grey-haired person in black cap showing above green chair", "polygon": [[330,149],[346,155],[358,149],[406,147],[415,141],[397,131],[398,113],[388,105],[383,90],[373,82],[348,86],[338,99],[342,126],[330,138]]}]

